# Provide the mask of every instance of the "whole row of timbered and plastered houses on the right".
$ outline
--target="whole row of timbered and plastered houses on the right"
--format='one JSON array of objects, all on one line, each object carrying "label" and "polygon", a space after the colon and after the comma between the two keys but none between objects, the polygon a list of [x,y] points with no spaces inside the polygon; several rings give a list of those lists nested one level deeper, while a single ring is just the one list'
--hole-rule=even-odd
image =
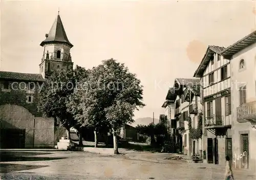
[{"label": "whole row of timbered and plastered houses on the right", "polygon": [[[162,105],[179,151],[256,170],[256,31],[208,46],[191,78],[176,78]],[[202,129],[202,133],[200,133]]]}]

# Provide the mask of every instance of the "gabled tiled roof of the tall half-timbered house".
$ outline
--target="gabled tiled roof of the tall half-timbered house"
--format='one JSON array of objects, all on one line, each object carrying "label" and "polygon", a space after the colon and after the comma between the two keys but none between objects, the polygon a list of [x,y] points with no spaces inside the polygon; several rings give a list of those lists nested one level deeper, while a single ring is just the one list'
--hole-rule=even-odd
[{"label": "gabled tiled roof of the tall half-timbered house", "polygon": [[225,50],[224,47],[208,46],[202,61],[200,62],[196,72],[194,73],[194,77],[202,77],[204,70],[207,68],[207,65],[210,62],[211,56],[215,53],[221,54],[223,50]]}]

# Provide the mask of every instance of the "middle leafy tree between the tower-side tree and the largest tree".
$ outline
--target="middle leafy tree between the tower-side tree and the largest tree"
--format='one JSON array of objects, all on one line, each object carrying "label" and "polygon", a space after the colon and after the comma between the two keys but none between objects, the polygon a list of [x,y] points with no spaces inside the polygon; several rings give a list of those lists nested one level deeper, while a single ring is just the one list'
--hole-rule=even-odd
[{"label": "middle leafy tree between the tower-side tree and the largest tree", "polygon": [[70,95],[67,106],[78,128],[92,127],[94,129],[95,147],[97,147],[98,133],[109,132],[110,124],[106,121],[104,106],[96,96],[98,84],[94,70],[77,73],[78,77],[83,76],[83,78],[77,78],[77,88]]}]

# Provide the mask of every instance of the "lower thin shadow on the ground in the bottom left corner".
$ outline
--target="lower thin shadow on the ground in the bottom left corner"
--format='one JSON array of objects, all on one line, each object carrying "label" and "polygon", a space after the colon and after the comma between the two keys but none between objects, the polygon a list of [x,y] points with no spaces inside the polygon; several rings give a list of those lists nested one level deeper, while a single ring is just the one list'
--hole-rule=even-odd
[{"label": "lower thin shadow on the ground in the bottom left corner", "polygon": [[9,173],[9,172],[37,169],[37,168],[43,168],[43,167],[48,167],[48,166],[24,165],[24,164],[0,164],[0,173]]}]

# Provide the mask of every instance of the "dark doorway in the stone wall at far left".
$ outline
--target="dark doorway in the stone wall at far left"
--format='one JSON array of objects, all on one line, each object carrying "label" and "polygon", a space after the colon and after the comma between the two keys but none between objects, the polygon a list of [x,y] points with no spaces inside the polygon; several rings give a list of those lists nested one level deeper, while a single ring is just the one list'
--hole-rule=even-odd
[{"label": "dark doorway in the stone wall at far left", "polygon": [[0,148],[25,148],[25,129],[0,129],[0,134]]}]

